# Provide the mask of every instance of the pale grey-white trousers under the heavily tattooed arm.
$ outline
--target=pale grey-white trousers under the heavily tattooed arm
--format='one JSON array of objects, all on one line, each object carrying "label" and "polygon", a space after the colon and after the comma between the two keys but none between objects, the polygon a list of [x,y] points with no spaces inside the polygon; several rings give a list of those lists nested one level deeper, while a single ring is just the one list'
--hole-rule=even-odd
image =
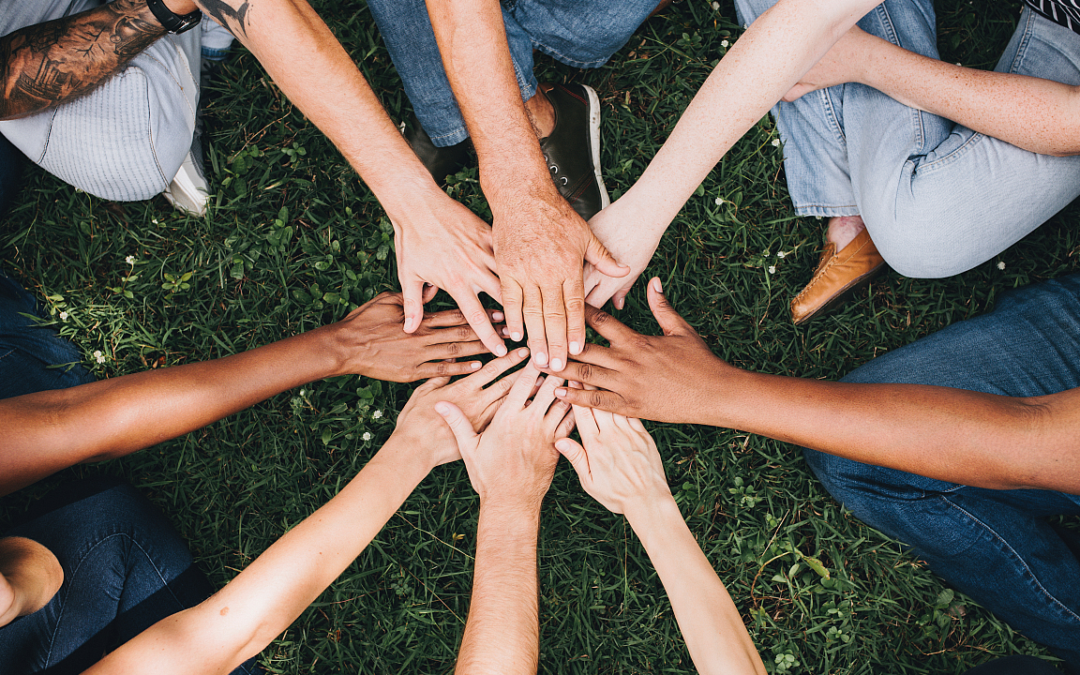
[{"label": "pale grey-white trousers under the heavily tattooed arm", "polygon": [[[0,0],[0,35],[98,4]],[[191,149],[202,32],[165,36],[90,94],[0,122],[0,134],[49,173],[102,199],[137,201],[160,193]]]}]

